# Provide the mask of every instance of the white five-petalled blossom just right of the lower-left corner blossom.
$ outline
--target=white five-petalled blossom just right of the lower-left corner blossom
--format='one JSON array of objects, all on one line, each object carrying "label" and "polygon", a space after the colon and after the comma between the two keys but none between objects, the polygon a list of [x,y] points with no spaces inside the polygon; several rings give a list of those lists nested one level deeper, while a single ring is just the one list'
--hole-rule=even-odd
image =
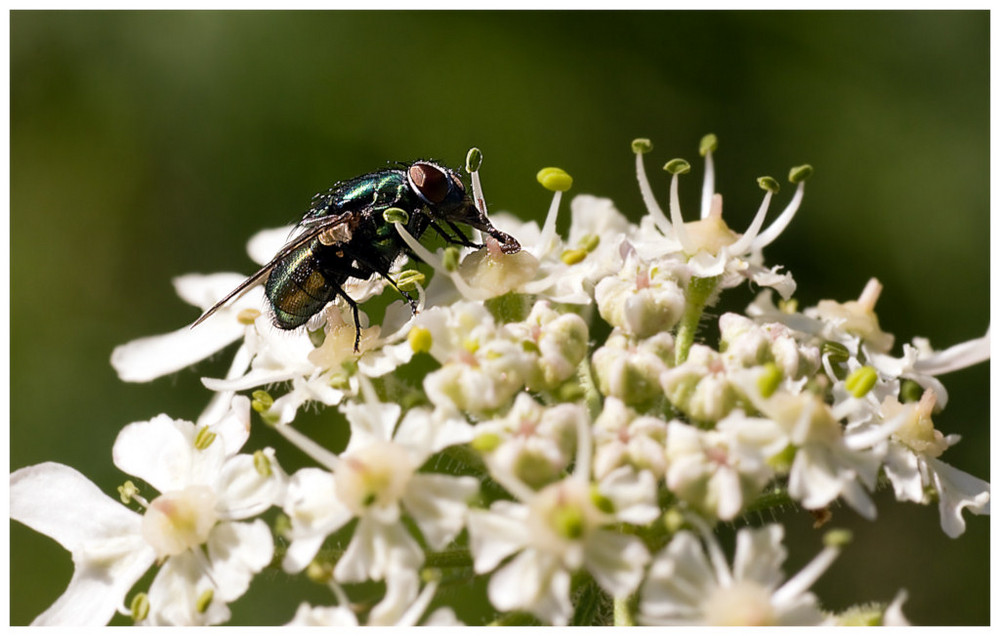
[{"label": "white five-petalled blossom just right of the lower-left corner blossom", "polygon": [[404,510],[431,549],[441,549],[461,531],[466,501],[478,490],[471,477],[417,469],[431,453],[468,441],[471,433],[448,428],[452,432],[442,435],[441,420],[419,409],[409,411],[397,428],[400,408],[395,404],[370,401],[341,408],[351,423],[351,441],[328,462],[332,474],[305,468],[293,477],[284,504],[292,544],[283,566],[301,571],[327,535],[357,518],[334,570],[338,580],[381,580],[414,570],[424,557],[402,523]]}]

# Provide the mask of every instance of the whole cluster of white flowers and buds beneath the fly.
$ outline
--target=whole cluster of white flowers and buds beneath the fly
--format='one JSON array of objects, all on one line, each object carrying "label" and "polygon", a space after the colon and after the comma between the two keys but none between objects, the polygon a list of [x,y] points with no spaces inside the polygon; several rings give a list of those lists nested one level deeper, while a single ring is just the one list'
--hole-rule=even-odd
[{"label": "whole cluster of white flowers and buds beneath the fly", "polygon": [[[406,303],[391,305],[357,350],[340,301],[285,332],[261,313],[258,291],[196,329],[116,349],[123,380],[149,381],[240,341],[227,376],[204,379],[214,397],[197,423],[159,415],[119,435],[115,465],[154,488],[151,500],[126,482],[121,505],[59,464],[11,475],[11,516],[56,539],[75,565],[35,622],[104,624],[117,611],[141,624],[222,623],[268,566],[330,588],[329,606],[303,603],[293,624],[454,624],[450,608],[428,610],[446,581],[473,576],[489,577],[500,623],[846,620],[809,592],[843,536],[829,533],[786,579],[780,525],[740,530],[731,567],[712,529],[766,501],[821,515],[839,499],[874,519],[884,476],[898,500],[935,502],[944,531],[960,535],[963,510],[989,513],[989,484],[940,459],[958,436],[934,428],[947,400],[937,376],[986,359],[989,334],[944,351],[917,340],[893,357],[874,279],[857,300],[797,311],[795,282],[765,267],[762,250],[794,216],[811,168],[791,171],[794,196],[766,229],[778,186],[760,179],[763,202],[740,234],[715,193],[715,145],[708,136],[701,147],[699,220],[680,211],[689,165],[665,167],[668,216],[643,166],[651,145],[637,140],[647,207],[638,225],[610,200],[580,195],[563,239],[555,221],[570,179],[546,169],[539,180],[555,196],[541,228],[494,217],[519,253],[487,238],[448,267],[404,236],[436,271],[416,286],[422,309],[411,317]],[[251,255],[265,262],[285,235],[259,234]],[[205,310],[241,280],[175,284]],[[703,310],[744,281],[767,289],[745,315],[718,318],[716,344],[695,342]],[[384,286],[375,278],[346,291],[362,301]],[[397,369],[419,369],[417,388],[391,381]],[[308,403],[346,417],[346,449],[293,427]],[[287,475],[271,448],[241,453],[251,411],[315,466]],[[273,507],[281,515],[268,525],[261,515]],[[346,529],[346,548],[334,550],[328,539]],[[148,590],[133,591],[152,567]],[[385,594],[359,610],[342,585],[363,581],[384,582]],[[864,620],[904,624],[904,598]]]}]

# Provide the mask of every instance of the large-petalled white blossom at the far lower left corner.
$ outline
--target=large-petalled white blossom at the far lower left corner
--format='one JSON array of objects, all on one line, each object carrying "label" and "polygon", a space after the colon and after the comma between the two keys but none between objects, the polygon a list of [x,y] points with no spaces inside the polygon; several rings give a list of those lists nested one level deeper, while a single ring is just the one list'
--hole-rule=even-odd
[{"label": "large-petalled white blossom at the far lower left corner", "polygon": [[[115,465],[162,493],[144,515],[114,504],[59,464],[11,475],[13,518],[58,540],[77,566],[66,593],[36,623],[106,623],[154,559],[164,565],[150,588],[149,622],[227,620],[225,603],[243,595],[273,551],[266,525],[234,520],[260,514],[284,489],[273,451],[236,454],[248,418],[249,402],[240,397],[226,420],[243,426],[224,421],[198,429],[165,415],[126,426],[115,442]],[[214,609],[196,612],[192,598],[206,591]]]}]

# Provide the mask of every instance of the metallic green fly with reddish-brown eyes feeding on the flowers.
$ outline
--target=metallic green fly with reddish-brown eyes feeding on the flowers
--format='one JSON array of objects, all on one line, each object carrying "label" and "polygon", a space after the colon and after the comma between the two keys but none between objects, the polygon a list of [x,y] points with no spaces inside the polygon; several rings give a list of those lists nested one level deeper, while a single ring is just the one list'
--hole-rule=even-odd
[{"label": "metallic green fly with reddish-brown eyes feeding on the flowers", "polygon": [[[250,287],[264,281],[264,293],[282,329],[304,325],[338,296],[354,313],[357,350],[360,341],[357,303],[343,289],[350,278],[366,280],[378,274],[396,289],[389,277],[393,263],[409,248],[396,228],[383,217],[388,208],[401,208],[409,215],[406,229],[419,239],[427,228],[449,243],[482,247],[469,241],[455,225],[481,230],[512,254],[518,242],[493,227],[486,214],[466,194],[458,174],[430,161],[417,161],[398,169],[380,170],[341,181],[313,197],[297,234],[256,274],[209,309],[195,324]],[[447,225],[455,235],[445,231]],[[411,308],[416,304],[400,290]]]}]

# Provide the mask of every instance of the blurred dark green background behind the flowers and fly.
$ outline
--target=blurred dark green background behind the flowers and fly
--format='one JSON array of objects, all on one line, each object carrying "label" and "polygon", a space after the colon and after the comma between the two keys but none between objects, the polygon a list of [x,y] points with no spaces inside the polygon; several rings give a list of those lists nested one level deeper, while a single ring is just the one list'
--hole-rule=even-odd
[{"label": "blurred dark green background behind the flowers and fly", "polygon": [[[197,316],[172,277],[249,273],[246,239],[297,220],[314,192],[387,161],[459,166],[473,145],[493,211],[541,219],[549,196],[534,175],[555,165],[572,192],[637,220],[629,142],[652,139],[651,171],[692,161],[681,188],[694,215],[697,144],[714,132],[737,230],[759,204],[756,177],[811,163],[804,205],[768,249],[801,302],[854,298],[877,276],[896,351],[989,323],[985,11],[13,12],[10,27],[12,470],[58,461],[113,494],[121,427],[195,418],[208,398],[198,378],[229,357],[118,381],[115,345]],[[734,292],[724,308],[750,298]],[[943,459],[988,479],[988,367],[944,380],[951,403],[935,421],[964,439]],[[855,542],[819,597],[842,609],[905,587],[915,622],[988,624],[988,519],[950,540],[935,508],[890,499],[877,523],[835,509]],[[804,513],[785,519],[794,571],[819,533]],[[10,536],[11,622],[23,624],[72,566],[19,524]],[[332,602],[315,587],[261,577],[234,614],[284,622],[299,596]]]}]

